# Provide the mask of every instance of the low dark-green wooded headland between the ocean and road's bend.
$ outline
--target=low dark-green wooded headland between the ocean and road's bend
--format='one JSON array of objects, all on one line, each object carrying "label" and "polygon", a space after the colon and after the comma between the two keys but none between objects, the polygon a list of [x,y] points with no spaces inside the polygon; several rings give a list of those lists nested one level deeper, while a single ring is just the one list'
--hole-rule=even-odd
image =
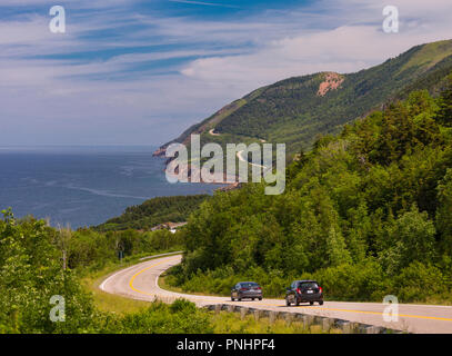
[{"label": "low dark-green wooded headland between the ocean and road's bend", "polygon": [[121,216],[109,219],[96,229],[100,231],[149,230],[164,222],[183,222],[208,197],[208,195],[197,195],[153,198],[139,206],[127,208]]}]

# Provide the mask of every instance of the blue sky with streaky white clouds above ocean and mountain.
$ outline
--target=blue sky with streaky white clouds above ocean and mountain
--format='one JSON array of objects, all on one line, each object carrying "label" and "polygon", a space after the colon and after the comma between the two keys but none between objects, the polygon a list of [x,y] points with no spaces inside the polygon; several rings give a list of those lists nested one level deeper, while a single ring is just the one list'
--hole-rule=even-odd
[{"label": "blue sky with streaky white clouds above ocean and mountain", "polygon": [[[66,10],[52,33],[49,10]],[[395,6],[398,33],[382,29]],[[0,146],[162,145],[251,90],[452,38],[451,0],[1,0]]]}]

